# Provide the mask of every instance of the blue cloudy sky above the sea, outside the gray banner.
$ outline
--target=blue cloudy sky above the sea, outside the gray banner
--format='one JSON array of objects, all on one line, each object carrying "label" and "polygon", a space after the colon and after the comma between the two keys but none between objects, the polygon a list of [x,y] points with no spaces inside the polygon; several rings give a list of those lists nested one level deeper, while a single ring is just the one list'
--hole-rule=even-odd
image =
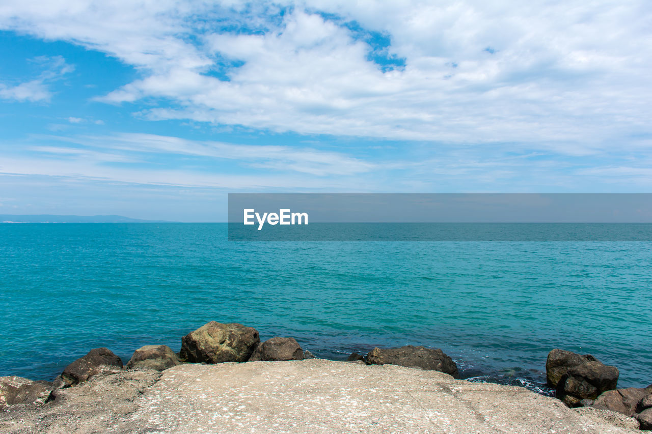
[{"label": "blue cloudy sky above the sea, outside the gray banner", "polygon": [[0,214],[652,192],[647,1],[0,1]]}]

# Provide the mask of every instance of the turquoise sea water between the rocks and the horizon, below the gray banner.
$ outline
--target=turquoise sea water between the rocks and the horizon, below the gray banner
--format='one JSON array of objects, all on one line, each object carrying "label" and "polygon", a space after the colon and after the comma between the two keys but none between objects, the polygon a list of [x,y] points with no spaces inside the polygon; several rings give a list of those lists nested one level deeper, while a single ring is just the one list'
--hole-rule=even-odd
[{"label": "turquoise sea water between the rocks and the horizon, below the gray banner", "polygon": [[652,383],[649,242],[229,242],[226,224],[0,225],[0,375],[210,320],[328,358],[441,347],[463,377],[544,380],[554,347]]}]

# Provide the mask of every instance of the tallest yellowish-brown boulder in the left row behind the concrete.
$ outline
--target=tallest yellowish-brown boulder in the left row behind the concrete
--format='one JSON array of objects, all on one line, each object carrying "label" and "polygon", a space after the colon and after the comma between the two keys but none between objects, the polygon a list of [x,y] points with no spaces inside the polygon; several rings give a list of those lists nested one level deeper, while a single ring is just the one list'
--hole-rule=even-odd
[{"label": "tallest yellowish-brown boulder in the left row behind the concrete", "polygon": [[259,342],[255,328],[211,321],[181,339],[179,357],[190,363],[246,362]]}]

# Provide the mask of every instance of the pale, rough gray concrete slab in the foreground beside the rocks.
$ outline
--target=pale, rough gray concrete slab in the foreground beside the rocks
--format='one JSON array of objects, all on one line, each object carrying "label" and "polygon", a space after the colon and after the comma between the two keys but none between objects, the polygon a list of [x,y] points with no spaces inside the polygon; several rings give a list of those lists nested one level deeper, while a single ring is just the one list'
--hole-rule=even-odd
[{"label": "pale, rough gray concrete slab in the foreground beside the rocks", "polygon": [[[128,375],[128,372],[114,374]],[[132,374],[133,375],[133,374]],[[139,373],[138,375],[153,375]],[[140,377],[139,377],[140,378]],[[144,378],[144,377],[143,377]],[[186,364],[129,394],[72,411],[74,398],[0,422],[1,432],[115,433],[632,433],[633,420],[580,412],[524,388],[436,371],[310,359]],[[154,378],[154,377],[151,377]],[[96,393],[78,386],[78,398]],[[138,383],[140,381],[140,383]],[[116,380],[112,380],[116,384]],[[144,383],[143,383],[144,382]],[[89,382],[93,383],[93,381]],[[138,383],[138,384],[136,384]],[[141,384],[142,383],[142,384]],[[139,385],[140,384],[140,385]],[[82,392],[81,388],[87,388]],[[139,389],[140,388],[140,389]],[[73,388],[74,389],[74,388]],[[135,392],[134,392],[135,390]],[[143,392],[143,393],[140,393]],[[72,392],[71,392],[72,393]],[[98,399],[95,399],[98,401]],[[74,407],[73,405],[73,407]],[[72,409],[72,410],[71,410]],[[98,413],[98,411],[100,413]],[[49,416],[43,416],[45,413]],[[38,416],[40,414],[40,416]],[[55,417],[59,414],[59,418]],[[99,415],[98,415],[99,414]],[[40,418],[40,419],[39,419]],[[32,429],[33,431],[30,431]]]}]

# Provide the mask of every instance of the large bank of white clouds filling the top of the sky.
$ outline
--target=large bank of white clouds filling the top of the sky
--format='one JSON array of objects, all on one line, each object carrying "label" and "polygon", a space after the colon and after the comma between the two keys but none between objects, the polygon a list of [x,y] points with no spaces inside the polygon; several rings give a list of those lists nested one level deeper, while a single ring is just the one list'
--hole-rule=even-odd
[{"label": "large bank of white clouds filling the top of the sky", "polygon": [[569,154],[650,132],[643,1],[36,3],[0,27],[134,66],[98,99],[147,119]]}]

